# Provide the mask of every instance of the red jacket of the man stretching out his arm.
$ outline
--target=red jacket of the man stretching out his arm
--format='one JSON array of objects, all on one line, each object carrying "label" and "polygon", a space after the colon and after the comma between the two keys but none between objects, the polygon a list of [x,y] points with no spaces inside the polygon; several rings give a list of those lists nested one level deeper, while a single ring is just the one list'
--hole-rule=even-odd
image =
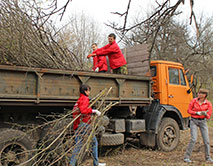
[{"label": "red jacket of the man stretching out his arm", "polygon": [[124,55],[122,54],[120,48],[118,47],[118,44],[115,41],[111,44],[107,44],[102,48],[98,48],[93,53],[99,56],[108,55],[111,69],[116,69],[126,64]]}]

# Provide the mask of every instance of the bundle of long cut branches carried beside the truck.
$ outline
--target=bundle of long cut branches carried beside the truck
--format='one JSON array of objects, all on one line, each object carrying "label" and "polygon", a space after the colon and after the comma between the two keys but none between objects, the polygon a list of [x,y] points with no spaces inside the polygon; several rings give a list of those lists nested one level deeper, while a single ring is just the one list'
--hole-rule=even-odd
[{"label": "bundle of long cut branches carried beside the truck", "polygon": [[[96,97],[91,100],[90,107],[96,106],[96,108],[101,112],[101,116],[93,116],[91,119],[90,127],[85,131],[85,128],[78,128],[78,131],[84,130],[83,136],[81,136],[82,147],[79,150],[77,165],[81,165],[85,155],[91,154],[91,141],[94,135],[100,135],[104,132],[104,127],[106,126],[107,120],[105,113],[117,103],[105,103],[105,98],[110,93],[112,88],[104,89]],[[73,150],[76,148],[75,137],[77,136],[73,132],[73,122],[80,116],[78,115],[73,119],[73,113],[76,110],[67,110],[65,114],[53,114],[44,116],[41,115],[42,119],[53,119],[51,121],[47,120],[46,123],[33,127],[27,132],[27,135],[31,135],[34,130],[42,129],[43,135],[42,139],[32,152],[22,152],[31,153],[28,160],[19,164],[22,165],[32,165],[32,166],[52,166],[52,165],[69,165],[69,161],[73,154]],[[33,155],[32,155],[33,154]]]}]

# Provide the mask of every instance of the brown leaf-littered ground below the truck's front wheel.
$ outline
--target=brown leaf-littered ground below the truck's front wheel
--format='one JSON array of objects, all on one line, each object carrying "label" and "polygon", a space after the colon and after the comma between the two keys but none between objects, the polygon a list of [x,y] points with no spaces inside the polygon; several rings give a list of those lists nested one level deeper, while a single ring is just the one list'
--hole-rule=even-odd
[{"label": "brown leaf-littered ground below the truck's front wheel", "polygon": [[[211,156],[213,158],[213,127],[209,127],[211,145]],[[207,166],[213,165],[205,162],[204,146],[202,137],[199,134],[196,146],[191,156],[192,163],[183,162],[183,156],[190,139],[190,130],[181,131],[180,143],[172,152],[139,147],[139,142],[132,140],[125,145],[107,148],[102,150],[100,162],[107,163],[107,166]],[[88,159],[83,166],[92,166],[92,160]]]}]

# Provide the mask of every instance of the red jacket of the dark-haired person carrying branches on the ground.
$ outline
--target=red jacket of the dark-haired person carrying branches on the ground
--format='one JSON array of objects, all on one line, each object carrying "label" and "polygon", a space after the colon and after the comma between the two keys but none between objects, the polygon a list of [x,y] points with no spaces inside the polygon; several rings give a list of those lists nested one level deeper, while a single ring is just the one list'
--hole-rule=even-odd
[{"label": "red jacket of the dark-haired person carrying branches on the ground", "polygon": [[80,113],[81,116],[74,121],[73,124],[74,130],[78,128],[78,125],[80,124],[81,120],[82,122],[89,124],[91,121],[91,114],[92,114],[92,108],[89,108],[89,97],[85,96],[84,94],[80,94],[80,97],[74,106],[74,110],[76,107],[78,107],[79,111],[73,113],[73,118],[77,117]]}]

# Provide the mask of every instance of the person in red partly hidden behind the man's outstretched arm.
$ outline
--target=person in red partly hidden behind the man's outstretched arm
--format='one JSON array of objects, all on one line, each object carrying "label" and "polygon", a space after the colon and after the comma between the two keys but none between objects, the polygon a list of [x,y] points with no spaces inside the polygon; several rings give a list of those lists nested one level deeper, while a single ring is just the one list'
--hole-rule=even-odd
[{"label": "person in red partly hidden behind the man's outstretched arm", "polygon": [[[96,43],[92,44],[93,52],[98,49],[98,45]],[[106,73],[108,70],[107,67],[107,59],[106,56],[93,56],[93,71],[99,73]]]}]

